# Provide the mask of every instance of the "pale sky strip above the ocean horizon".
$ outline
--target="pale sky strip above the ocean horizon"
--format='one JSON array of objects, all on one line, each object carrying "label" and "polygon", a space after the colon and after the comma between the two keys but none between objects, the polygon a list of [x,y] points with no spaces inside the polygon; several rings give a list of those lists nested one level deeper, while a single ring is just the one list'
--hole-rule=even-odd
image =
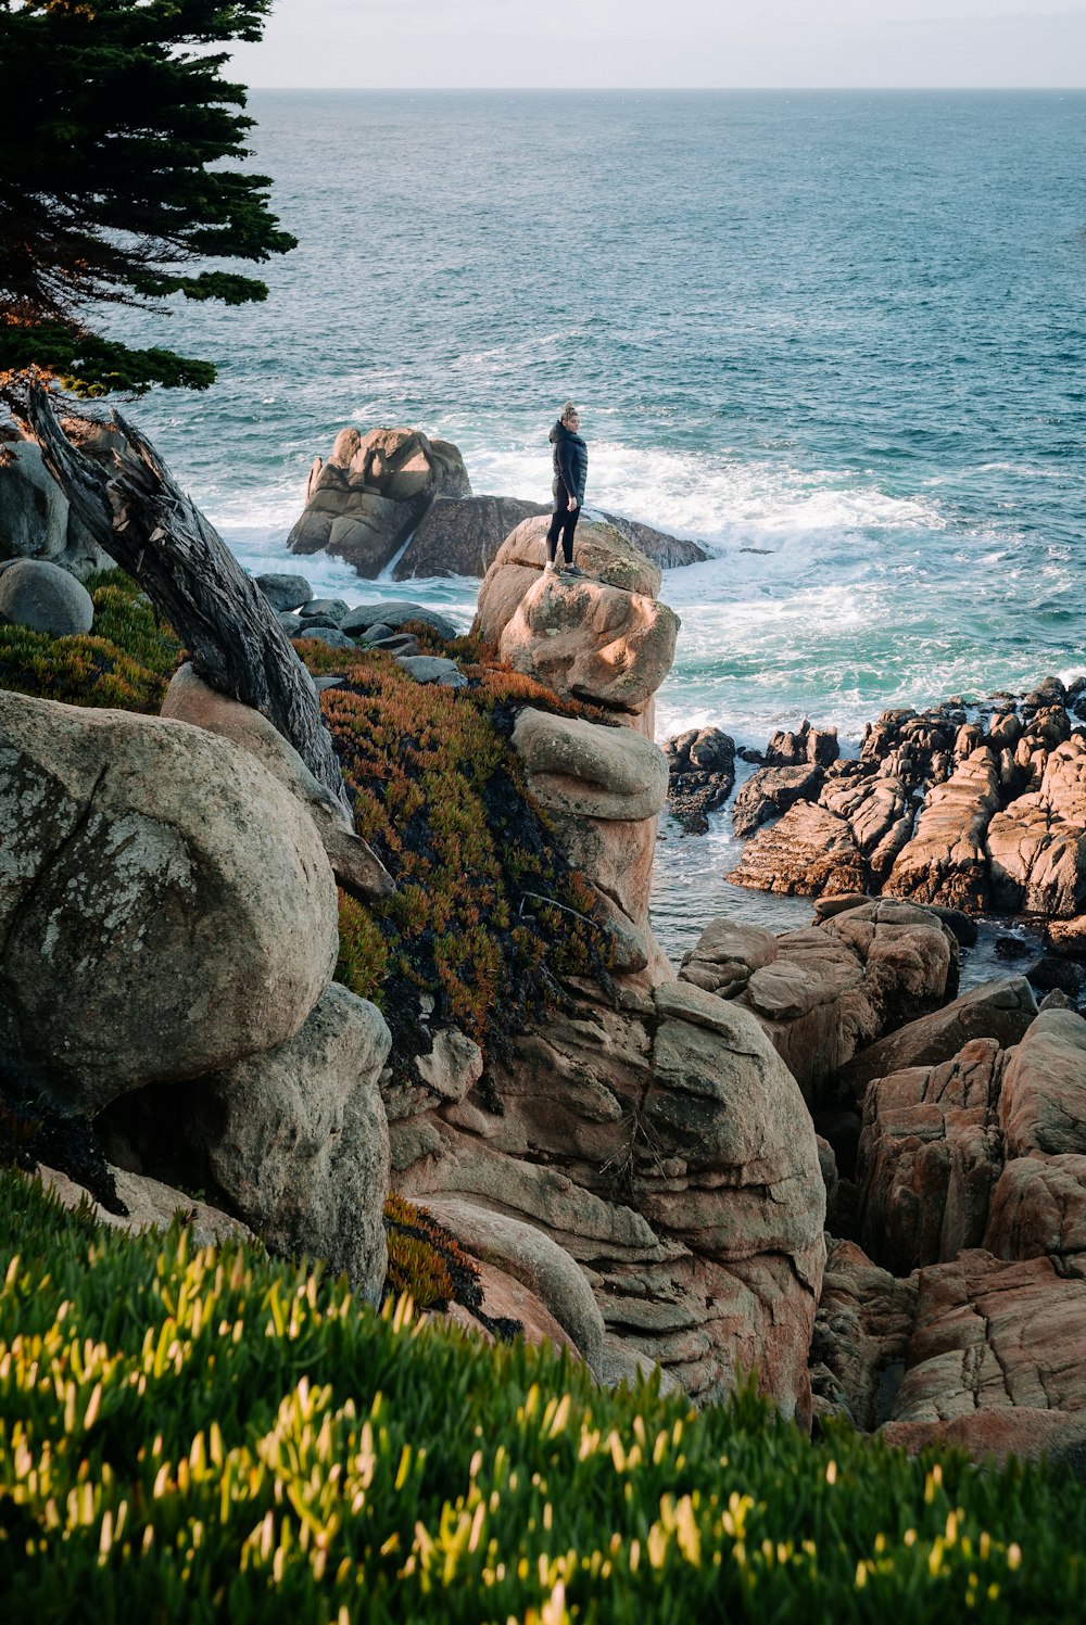
[{"label": "pale sky strip above the ocean horizon", "polygon": [[1086,0],[278,0],[250,86],[1084,86]]}]

